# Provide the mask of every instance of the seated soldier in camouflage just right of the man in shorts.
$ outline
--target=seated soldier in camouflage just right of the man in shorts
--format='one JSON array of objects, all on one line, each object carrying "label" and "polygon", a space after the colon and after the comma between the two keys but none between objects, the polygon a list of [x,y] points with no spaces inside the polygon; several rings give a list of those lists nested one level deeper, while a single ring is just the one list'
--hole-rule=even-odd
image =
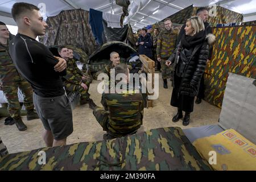
[{"label": "seated soldier in camouflage just right of the man in shorts", "polygon": [[76,61],[70,57],[69,49],[65,46],[60,46],[58,52],[63,59],[67,60],[67,75],[63,76],[64,86],[69,92],[78,91],[81,95],[80,104],[90,104],[90,94],[88,93],[91,79],[87,77],[77,68]]}]

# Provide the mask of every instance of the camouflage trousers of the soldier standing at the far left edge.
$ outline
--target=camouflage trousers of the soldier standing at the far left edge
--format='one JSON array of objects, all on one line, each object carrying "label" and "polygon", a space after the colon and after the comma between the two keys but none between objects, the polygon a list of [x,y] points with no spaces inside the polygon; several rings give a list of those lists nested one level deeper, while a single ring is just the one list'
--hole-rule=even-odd
[{"label": "camouflage trousers of the soldier standing at the far left edge", "polygon": [[3,93],[7,99],[9,114],[14,119],[20,117],[18,88],[22,91],[24,97],[24,106],[26,107],[26,110],[34,109],[33,90],[31,85],[26,80],[3,84],[1,90],[3,90]]}]

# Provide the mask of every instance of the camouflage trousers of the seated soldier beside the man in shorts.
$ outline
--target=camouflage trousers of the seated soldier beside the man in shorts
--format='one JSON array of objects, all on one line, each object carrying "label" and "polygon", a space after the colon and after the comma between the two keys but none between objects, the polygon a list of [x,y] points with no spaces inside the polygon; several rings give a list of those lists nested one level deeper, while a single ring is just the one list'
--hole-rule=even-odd
[{"label": "camouflage trousers of the seated soldier beside the man in shorts", "polygon": [[81,100],[89,100],[90,94],[88,93],[89,86],[88,82],[85,83],[88,86],[88,89],[85,90],[81,85],[71,84],[64,82],[65,89],[69,92],[79,92],[81,95]]}]

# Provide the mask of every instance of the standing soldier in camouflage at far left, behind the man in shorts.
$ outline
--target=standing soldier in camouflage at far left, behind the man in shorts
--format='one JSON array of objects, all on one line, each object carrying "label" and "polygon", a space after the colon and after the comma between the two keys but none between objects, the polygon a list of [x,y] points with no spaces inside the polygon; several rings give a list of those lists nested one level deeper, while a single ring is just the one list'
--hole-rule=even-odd
[{"label": "standing soldier in camouflage at far left, behind the man in shorts", "polygon": [[9,55],[10,32],[5,23],[0,22],[0,84],[1,90],[8,101],[8,111],[14,119],[19,131],[27,130],[27,126],[20,117],[20,105],[18,100],[18,88],[24,96],[24,106],[27,110],[27,120],[38,119],[34,113],[34,104],[31,85],[18,73],[13,60]]}]

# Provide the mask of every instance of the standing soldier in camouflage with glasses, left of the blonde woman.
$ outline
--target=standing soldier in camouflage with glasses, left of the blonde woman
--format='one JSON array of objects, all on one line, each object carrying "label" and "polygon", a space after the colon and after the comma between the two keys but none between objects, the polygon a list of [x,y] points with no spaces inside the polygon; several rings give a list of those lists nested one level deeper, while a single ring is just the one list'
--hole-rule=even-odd
[{"label": "standing soldier in camouflage with glasses, left of the blonde woman", "polygon": [[171,28],[172,22],[171,19],[167,18],[164,20],[165,29],[160,32],[158,36],[158,44],[156,47],[156,56],[158,57],[158,61],[161,63],[162,67],[162,78],[164,82],[164,88],[168,88],[167,86],[167,78],[171,78],[172,80],[172,67],[167,67],[165,61],[171,56],[172,52],[175,49],[176,39],[177,39],[177,31],[172,30]]}]

